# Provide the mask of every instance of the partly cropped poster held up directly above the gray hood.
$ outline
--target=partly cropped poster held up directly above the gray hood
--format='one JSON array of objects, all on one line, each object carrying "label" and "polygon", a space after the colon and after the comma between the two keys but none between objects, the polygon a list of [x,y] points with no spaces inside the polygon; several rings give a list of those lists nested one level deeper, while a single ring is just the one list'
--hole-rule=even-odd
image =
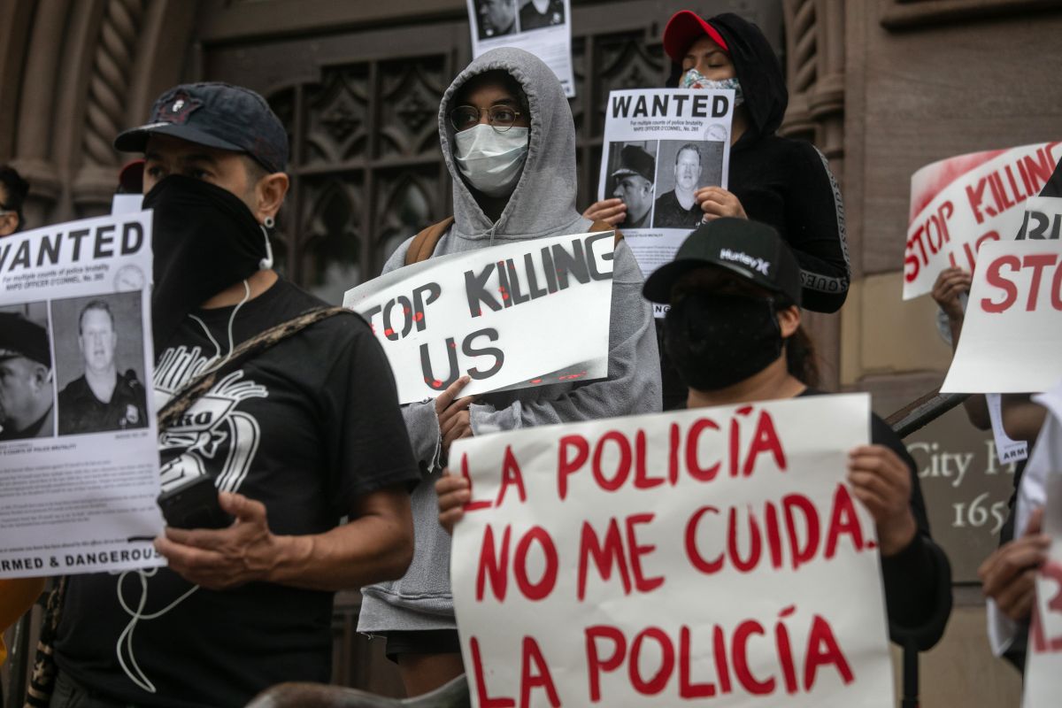
[{"label": "partly cropped poster held up directly above the gray hood", "polygon": [[472,55],[498,47],[516,47],[546,63],[569,99],[576,94],[571,73],[571,0],[466,0]]}]

